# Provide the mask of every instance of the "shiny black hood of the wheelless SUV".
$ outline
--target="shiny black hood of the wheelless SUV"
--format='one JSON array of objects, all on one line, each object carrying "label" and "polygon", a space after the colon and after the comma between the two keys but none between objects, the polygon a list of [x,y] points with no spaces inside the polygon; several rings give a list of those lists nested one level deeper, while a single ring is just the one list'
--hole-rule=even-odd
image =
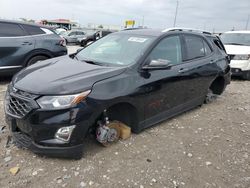
[{"label": "shiny black hood of the wheelless SUV", "polygon": [[88,90],[94,83],[119,75],[125,69],[92,65],[62,56],[27,67],[13,78],[13,84],[33,94],[73,94]]}]

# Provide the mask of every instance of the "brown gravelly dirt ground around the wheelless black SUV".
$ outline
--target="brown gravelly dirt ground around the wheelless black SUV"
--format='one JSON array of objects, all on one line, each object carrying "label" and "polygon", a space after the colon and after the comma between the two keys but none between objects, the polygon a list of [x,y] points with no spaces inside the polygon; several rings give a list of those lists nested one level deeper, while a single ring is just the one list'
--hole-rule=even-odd
[{"label": "brown gravelly dirt ground around the wheelless black SUV", "polygon": [[[0,125],[5,125],[1,82]],[[250,187],[250,82],[234,80],[214,103],[104,148],[86,141],[81,160],[39,157],[0,134],[0,187]],[[20,167],[14,176],[12,167]]]}]

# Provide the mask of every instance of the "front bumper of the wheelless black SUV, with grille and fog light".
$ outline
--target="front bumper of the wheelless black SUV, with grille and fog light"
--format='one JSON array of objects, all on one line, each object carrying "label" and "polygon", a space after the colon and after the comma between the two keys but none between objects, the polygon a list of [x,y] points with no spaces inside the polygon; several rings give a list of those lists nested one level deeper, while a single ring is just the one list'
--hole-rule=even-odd
[{"label": "front bumper of the wheelless black SUV, with grille and fog light", "polygon": [[83,101],[68,109],[43,110],[36,105],[35,97],[11,89],[6,93],[5,119],[14,143],[36,154],[80,158],[92,125],[92,108]]}]

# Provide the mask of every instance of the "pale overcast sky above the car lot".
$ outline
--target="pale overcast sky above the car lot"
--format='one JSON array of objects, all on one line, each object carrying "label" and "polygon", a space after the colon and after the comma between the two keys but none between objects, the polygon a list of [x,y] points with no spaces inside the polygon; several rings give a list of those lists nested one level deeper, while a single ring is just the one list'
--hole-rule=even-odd
[{"label": "pale overcast sky above the car lot", "polygon": [[[78,20],[123,25],[127,19],[151,28],[173,26],[176,0],[0,0],[0,18]],[[249,0],[179,0],[176,25],[217,32],[245,29]],[[249,27],[250,29],[250,23]]]}]

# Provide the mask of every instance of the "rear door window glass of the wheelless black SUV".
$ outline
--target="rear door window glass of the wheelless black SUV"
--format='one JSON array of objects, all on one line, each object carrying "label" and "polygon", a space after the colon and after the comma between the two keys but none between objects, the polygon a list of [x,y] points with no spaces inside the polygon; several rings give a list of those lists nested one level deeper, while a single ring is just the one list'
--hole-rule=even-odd
[{"label": "rear door window glass of the wheelless black SUV", "polygon": [[185,60],[191,60],[205,56],[205,48],[202,38],[186,35],[185,41],[187,46],[187,57]]}]

